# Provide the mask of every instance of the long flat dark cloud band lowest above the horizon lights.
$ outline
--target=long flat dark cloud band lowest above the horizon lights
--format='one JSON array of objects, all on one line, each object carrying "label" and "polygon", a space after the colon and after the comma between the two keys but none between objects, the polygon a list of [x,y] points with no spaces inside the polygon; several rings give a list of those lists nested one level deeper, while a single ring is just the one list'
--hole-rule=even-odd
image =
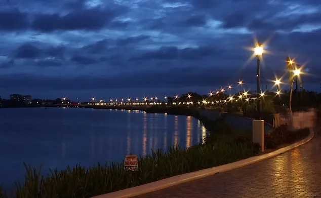
[{"label": "long flat dark cloud band lowest above the horizon lights", "polygon": [[[271,70],[270,70],[271,71]],[[314,72],[321,72],[320,69]],[[148,73],[148,75],[146,75]],[[276,70],[277,74],[285,73],[283,70]],[[219,68],[198,68],[190,66],[182,68],[170,68],[161,70],[143,70],[136,72],[122,72],[112,76],[88,76],[80,75],[75,77],[45,77],[27,74],[2,75],[0,77],[0,88],[28,88],[36,90],[93,90],[93,89],[122,89],[122,88],[183,88],[183,87],[204,87],[213,85],[219,88],[227,84],[236,87],[238,79],[244,80],[247,84],[255,84],[256,78],[249,74],[256,74],[255,68],[248,68],[242,74],[231,72],[228,66]],[[266,77],[272,79],[273,73]],[[126,79],[126,80],[124,80]],[[129,83],[130,82],[130,83]],[[153,82],[153,83],[146,83]],[[317,78],[306,78],[305,83],[319,83]],[[76,86],[75,86],[76,85]],[[265,87],[262,80],[262,88]]]}]

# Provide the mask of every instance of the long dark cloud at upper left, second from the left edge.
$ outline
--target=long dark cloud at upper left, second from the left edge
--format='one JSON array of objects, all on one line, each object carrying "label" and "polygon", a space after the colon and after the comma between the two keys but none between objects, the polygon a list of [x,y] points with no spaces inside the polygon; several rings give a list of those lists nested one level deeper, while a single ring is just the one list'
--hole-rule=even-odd
[{"label": "long dark cloud at upper left, second from the left edge", "polygon": [[59,14],[38,14],[32,22],[32,28],[43,32],[55,30],[98,30],[126,11],[127,9],[122,7],[117,10],[101,8],[75,10],[64,16]]}]

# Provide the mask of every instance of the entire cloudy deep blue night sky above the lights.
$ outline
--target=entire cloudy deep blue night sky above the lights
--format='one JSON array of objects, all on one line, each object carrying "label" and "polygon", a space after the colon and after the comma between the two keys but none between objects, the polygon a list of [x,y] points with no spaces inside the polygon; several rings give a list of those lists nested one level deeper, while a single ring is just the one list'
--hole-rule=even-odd
[{"label": "entire cloudy deep blue night sky above the lights", "polygon": [[[71,100],[209,93],[305,64],[320,91],[319,0],[0,0],[0,96]],[[268,88],[272,84],[268,85]],[[265,90],[265,80],[262,79]],[[284,88],[286,89],[286,88]]]}]

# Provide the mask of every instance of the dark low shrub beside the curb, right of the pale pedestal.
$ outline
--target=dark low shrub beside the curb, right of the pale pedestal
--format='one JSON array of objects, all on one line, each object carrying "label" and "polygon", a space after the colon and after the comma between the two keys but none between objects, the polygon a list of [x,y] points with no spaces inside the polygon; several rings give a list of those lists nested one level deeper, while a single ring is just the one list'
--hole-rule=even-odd
[{"label": "dark low shrub beside the curb, right of the pale pedestal", "polygon": [[281,125],[278,128],[275,128],[271,133],[264,135],[265,147],[276,148],[285,143],[292,143],[307,137],[309,133],[310,131],[307,128],[291,131],[287,124]]}]

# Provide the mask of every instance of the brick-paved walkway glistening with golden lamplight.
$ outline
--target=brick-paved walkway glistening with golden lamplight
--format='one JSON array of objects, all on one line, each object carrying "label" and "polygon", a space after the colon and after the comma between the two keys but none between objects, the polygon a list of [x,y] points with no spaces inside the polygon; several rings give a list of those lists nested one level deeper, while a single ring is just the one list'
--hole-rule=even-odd
[{"label": "brick-paved walkway glistening with golden lamplight", "polygon": [[136,196],[161,197],[321,197],[321,135],[272,159]]}]

